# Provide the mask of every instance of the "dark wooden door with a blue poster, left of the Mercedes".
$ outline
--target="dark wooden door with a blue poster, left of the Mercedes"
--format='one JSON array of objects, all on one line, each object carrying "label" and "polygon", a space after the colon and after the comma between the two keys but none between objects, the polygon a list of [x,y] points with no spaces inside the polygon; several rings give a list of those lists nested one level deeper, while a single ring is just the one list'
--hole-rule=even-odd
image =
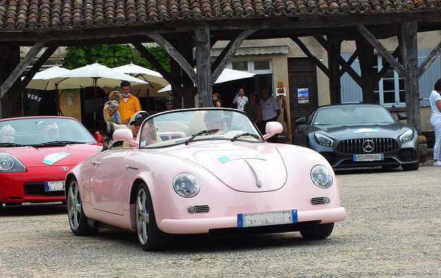
[{"label": "dark wooden door with a blue poster, left of the Mercedes", "polygon": [[307,58],[288,60],[289,103],[291,105],[291,127],[294,131],[298,118],[308,118],[318,106],[316,67]]}]

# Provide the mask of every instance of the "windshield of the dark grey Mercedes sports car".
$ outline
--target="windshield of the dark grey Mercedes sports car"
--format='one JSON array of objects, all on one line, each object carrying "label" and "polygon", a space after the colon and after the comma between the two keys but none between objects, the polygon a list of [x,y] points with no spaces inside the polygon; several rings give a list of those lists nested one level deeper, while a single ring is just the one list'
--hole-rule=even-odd
[{"label": "windshield of the dark grey Mercedes sports car", "polygon": [[382,106],[343,105],[317,109],[312,125],[392,123],[395,118]]}]

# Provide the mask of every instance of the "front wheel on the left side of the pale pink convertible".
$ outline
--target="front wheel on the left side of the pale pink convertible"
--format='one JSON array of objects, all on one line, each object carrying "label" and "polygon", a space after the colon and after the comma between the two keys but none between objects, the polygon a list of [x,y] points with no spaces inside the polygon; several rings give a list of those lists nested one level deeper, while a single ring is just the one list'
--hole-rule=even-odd
[{"label": "front wheel on the left side of the pale pink convertible", "polygon": [[156,226],[152,196],[145,184],[140,184],[136,193],[136,235],[143,250],[156,251],[165,248],[170,235]]}]

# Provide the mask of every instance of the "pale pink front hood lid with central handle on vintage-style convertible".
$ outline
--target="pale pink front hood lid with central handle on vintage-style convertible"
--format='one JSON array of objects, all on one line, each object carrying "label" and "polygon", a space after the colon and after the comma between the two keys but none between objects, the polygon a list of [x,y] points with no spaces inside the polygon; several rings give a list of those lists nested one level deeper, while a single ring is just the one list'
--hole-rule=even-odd
[{"label": "pale pink front hood lid with central handle on vintage-style convertible", "polygon": [[171,153],[196,162],[236,191],[274,191],[287,181],[285,163],[274,145],[195,143]]}]

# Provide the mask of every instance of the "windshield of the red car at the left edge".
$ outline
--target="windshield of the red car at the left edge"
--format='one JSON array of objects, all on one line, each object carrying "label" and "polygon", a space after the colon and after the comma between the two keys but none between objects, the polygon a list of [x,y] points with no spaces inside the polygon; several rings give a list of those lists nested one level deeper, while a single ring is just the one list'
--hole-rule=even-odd
[{"label": "windshield of the red car at the left edge", "polygon": [[0,147],[96,143],[80,122],[71,118],[14,118],[0,121]]}]

